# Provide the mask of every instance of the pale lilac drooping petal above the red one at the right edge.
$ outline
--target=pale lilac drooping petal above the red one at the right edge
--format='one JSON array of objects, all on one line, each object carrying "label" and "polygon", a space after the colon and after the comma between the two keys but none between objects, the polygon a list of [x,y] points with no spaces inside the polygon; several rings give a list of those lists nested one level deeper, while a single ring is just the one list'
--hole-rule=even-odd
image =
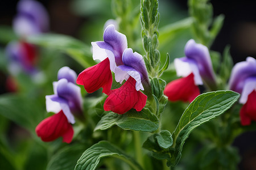
[{"label": "pale lilac drooping petal above the red one at the right edge", "polygon": [[245,85],[243,86],[243,91],[242,91],[239,103],[245,104],[248,99],[248,96],[254,90],[256,91],[256,76],[247,78],[245,80]]}]

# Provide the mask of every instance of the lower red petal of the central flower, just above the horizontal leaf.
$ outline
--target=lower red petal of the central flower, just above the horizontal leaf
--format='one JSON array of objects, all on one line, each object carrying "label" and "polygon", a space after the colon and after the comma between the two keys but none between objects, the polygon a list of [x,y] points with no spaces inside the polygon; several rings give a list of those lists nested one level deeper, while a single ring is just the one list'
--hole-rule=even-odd
[{"label": "lower red petal of the central flower, just above the horizontal leaf", "polygon": [[146,105],[147,96],[135,89],[136,80],[129,78],[123,86],[112,90],[104,103],[105,111],[123,114],[131,108],[141,111]]}]

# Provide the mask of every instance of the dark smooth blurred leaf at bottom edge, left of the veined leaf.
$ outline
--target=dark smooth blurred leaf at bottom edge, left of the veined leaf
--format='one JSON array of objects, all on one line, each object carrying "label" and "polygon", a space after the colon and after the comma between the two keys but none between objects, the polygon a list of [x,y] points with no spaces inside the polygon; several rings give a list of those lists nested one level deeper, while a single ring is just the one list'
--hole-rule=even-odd
[{"label": "dark smooth blurred leaf at bottom edge, left of the veined leaf", "polygon": [[82,145],[68,145],[50,159],[47,170],[69,170],[74,169],[77,160],[85,150]]}]

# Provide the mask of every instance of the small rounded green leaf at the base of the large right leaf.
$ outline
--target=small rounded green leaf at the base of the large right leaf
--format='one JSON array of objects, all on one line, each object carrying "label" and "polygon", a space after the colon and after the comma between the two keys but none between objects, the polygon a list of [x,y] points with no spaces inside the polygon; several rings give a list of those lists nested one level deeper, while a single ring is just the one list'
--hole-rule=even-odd
[{"label": "small rounded green leaf at the base of the large right leaf", "polygon": [[172,146],[172,134],[168,130],[160,131],[160,134],[156,136],[158,145],[162,148],[168,148]]}]

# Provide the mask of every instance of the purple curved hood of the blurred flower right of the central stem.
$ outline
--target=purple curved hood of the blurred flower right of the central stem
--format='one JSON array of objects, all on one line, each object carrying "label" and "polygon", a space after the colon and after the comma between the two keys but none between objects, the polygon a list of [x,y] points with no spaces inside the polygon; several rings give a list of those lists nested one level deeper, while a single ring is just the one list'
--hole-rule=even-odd
[{"label": "purple curved hood of the blurred flower right of the central stem", "polygon": [[209,50],[206,46],[196,44],[195,40],[191,39],[185,45],[185,56],[195,60],[201,78],[203,78],[205,82],[215,83],[212,61],[210,60]]}]

